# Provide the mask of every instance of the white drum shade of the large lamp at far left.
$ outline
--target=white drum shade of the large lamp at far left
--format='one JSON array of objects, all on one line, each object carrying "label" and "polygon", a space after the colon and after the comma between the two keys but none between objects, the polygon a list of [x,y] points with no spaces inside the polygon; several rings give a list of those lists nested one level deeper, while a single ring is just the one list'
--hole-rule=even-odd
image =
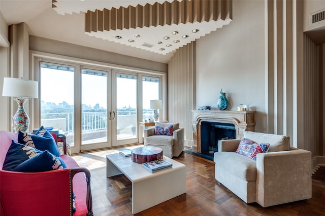
[{"label": "white drum shade of the large lamp at far left", "polygon": [[5,77],[2,96],[38,98],[38,81]]}]

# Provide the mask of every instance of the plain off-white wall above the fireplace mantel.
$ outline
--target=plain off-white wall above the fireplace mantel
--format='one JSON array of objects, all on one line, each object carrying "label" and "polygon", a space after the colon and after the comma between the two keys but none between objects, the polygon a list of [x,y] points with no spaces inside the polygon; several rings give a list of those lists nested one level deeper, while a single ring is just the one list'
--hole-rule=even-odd
[{"label": "plain off-white wall above the fireplace mantel", "polygon": [[197,106],[217,110],[220,90],[228,110],[246,104],[255,113],[255,131],[266,132],[264,1],[234,1],[233,21],[197,40]]}]

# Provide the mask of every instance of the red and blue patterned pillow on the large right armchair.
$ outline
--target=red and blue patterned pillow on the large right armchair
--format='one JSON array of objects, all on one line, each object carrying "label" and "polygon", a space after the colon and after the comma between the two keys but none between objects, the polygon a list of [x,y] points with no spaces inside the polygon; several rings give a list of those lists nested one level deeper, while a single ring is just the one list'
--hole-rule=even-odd
[{"label": "red and blue patterned pillow on the large right armchair", "polygon": [[270,147],[269,143],[255,143],[252,140],[243,138],[236,150],[238,154],[244,155],[256,161],[256,155],[258,153],[268,152]]}]

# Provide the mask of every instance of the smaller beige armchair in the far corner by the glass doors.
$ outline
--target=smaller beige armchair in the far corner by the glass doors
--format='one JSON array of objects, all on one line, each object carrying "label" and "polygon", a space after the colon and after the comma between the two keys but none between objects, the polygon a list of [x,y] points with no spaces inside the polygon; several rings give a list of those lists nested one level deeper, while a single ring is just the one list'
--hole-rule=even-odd
[{"label": "smaller beige armchair in the far corner by the glass doors", "polygon": [[148,128],[144,130],[144,145],[163,149],[167,157],[178,157],[184,150],[184,128],[179,123],[156,122],[155,125],[164,128],[173,125],[173,136],[155,135],[155,128]]}]

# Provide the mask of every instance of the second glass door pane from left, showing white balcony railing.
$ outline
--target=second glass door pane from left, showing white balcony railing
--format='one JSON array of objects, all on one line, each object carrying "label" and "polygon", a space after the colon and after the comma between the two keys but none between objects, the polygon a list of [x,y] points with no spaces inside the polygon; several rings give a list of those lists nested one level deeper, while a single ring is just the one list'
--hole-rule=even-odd
[{"label": "second glass door pane from left, showing white balcony railing", "polygon": [[107,81],[106,71],[81,69],[81,145],[91,145],[87,150],[108,146]]}]

